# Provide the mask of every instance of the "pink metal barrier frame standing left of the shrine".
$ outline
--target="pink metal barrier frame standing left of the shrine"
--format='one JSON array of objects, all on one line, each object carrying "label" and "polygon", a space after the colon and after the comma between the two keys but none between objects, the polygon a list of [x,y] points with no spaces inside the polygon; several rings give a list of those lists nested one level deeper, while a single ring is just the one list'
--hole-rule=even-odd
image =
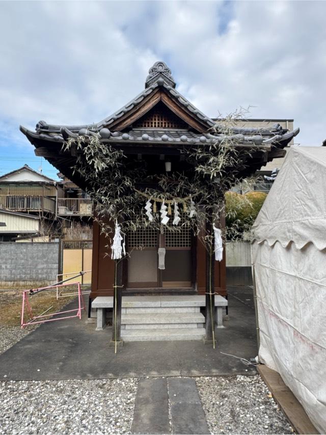
[{"label": "pink metal barrier frame standing left of the shrine", "polygon": [[[51,313],[51,314],[44,314],[44,315],[39,315],[39,316],[33,316],[33,311],[32,308],[30,306],[29,303],[29,298],[28,295],[36,295],[38,292],[40,292],[41,290],[55,290],[57,287],[65,287],[65,286],[70,286],[70,285],[77,285],[78,287],[78,308],[75,308],[73,310],[65,310],[65,311],[58,311],[57,313]],[[82,306],[83,304],[83,306]],[[30,315],[30,321],[28,322],[24,322],[24,315],[25,315],[25,310],[27,307],[27,311]],[[53,285],[49,285],[47,287],[40,287],[40,288],[33,288],[30,290],[24,290],[23,294],[22,294],[22,307],[21,307],[21,321],[20,321],[20,326],[21,329],[23,329],[25,326],[29,326],[31,324],[36,324],[36,323],[45,323],[45,322],[53,322],[55,320],[64,320],[64,319],[71,319],[74,317],[78,317],[79,319],[82,319],[82,310],[86,311],[85,308],[85,301],[84,301],[84,297],[83,297],[83,293],[82,290],[80,288],[80,283],[76,282],[76,283],[67,283],[67,284],[59,284],[58,286],[54,287]],[[56,316],[58,314],[67,314],[67,313],[73,313],[76,311],[76,314],[72,315],[72,316],[65,316],[65,317],[57,317],[57,318],[52,318],[52,319],[46,319],[45,317],[49,317],[49,316]]]}]

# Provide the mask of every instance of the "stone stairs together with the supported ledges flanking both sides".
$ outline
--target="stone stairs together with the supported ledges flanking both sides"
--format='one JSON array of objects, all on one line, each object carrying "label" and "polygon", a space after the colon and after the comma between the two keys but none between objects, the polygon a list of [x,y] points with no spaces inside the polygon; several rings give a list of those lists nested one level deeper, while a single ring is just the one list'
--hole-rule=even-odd
[{"label": "stone stairs together with the supported ledges flanking both sides", "polygon": [[[227,300],[215,296],[217,328],[223,327],[223,308]],[[106,327],[108,312],[113,309],[112,296],[98,296],[92,301],[97,309],[97,331]],[[205,337],[205,296],[123,296],[121,338],[124,341],[201,340]]]}]

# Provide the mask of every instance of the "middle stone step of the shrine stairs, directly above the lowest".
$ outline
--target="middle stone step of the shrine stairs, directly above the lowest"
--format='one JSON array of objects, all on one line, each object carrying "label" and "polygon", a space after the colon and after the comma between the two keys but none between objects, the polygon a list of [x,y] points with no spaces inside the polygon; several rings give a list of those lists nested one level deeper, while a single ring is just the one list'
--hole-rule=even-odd
[{"label": "middle stone step of the shrine stairs, directly above the lowest", "polygon": [[205,323],[205,317],[201,313],[121,314],[121,324],[146,323]]}]

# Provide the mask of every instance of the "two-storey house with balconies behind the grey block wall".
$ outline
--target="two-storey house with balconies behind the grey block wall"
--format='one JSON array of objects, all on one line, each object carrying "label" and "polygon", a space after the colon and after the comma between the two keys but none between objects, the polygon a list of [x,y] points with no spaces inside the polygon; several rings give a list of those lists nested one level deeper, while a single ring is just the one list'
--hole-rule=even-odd
[{"label": "two-storey house with balconies behind the grey block wall", "polygon": [[[67,178],[53,180],[28,165],[0,177],[0,210],[10,212],[11,220],[16,215],[10,232],[9,227],[0,227],[3,241],[17,237],[48,241],[49,237],[64,234],[75,222],[92,225],[92,203],[82,189]],[[23,216],[35,219],[26,220]]]}]

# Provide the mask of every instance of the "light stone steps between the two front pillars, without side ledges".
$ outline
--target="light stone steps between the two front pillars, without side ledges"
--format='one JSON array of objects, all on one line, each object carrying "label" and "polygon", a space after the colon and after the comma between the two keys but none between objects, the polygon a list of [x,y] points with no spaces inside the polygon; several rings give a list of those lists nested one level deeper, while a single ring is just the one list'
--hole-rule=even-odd
[{"label": "light stone steps between the two front pillars, without side ledges", "polygon": [[[124,341],[200,340],[205,317],[191,296],[137,297],[122,304]],[[124,301],[123,301],[124,302]]]}]

